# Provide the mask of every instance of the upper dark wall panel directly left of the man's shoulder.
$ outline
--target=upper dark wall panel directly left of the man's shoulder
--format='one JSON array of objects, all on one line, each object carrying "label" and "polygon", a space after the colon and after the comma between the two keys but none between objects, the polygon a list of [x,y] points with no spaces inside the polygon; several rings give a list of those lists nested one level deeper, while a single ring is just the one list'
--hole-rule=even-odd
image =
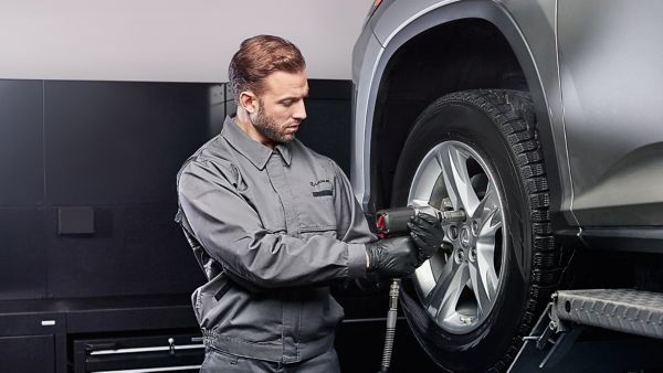
[{"label": "upper dark wall panel directly left of the man's shoulder", "polygon": [[173,203],[175,175],[208,138],[209,85],[45,82],[52,205]]}]

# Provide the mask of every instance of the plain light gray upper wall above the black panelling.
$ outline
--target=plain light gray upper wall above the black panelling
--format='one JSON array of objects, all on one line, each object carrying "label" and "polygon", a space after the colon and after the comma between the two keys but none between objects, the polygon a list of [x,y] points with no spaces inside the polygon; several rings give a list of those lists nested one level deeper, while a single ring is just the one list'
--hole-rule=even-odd
[{"label": "plain light gray upper wall above the black panelling", "polygon": [[240,42],[297,44],[309,77],[350,78],[371,0],[0,0],[0,78],[227,82]]}]

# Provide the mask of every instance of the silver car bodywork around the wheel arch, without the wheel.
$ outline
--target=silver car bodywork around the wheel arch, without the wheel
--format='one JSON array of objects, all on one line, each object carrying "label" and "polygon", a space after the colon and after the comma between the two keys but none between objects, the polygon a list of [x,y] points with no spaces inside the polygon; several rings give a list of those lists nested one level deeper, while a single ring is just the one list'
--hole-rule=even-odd
[{"label": "silver car bodywork around the wheel arch, without the wheel", "polygon": [[385,0],[354,51],[357,199],[369,209],[376,98],[390,58],[429,29],[483,19],[527,81],[551,211],[575,227],[663,226],[662,11],[656,0]]}]

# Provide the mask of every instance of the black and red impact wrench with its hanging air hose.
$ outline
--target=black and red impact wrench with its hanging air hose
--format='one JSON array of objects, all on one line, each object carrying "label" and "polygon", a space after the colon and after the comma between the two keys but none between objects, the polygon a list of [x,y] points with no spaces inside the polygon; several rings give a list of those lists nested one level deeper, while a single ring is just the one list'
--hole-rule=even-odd
[{"label": "black and red impact wrench with its hanging air hose", "polygon": [[[379,238],[401,235],[408,233],[408,222],[421,214],[435,216],[442,224],[452,222],[462,222],[466,215],[463,210],[440,211],[431,206],[407,206],[397,209],[380,210],[376,213],[376,227]],[[382,364],[380,372],[387,373],[391,365],[391,352],[393,351],[393,338],[396,337],[396,320],[398,313],[398,294],[400,291],[400,278],[391,280],[389,287],[389,311],[387,312],[387,332],[385,334],[385,350],[382,351]]]}]

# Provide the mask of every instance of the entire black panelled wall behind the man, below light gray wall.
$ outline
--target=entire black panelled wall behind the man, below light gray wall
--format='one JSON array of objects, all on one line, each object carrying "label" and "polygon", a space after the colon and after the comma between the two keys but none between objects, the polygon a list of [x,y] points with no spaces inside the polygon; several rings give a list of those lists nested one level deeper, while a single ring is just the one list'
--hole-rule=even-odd
[{"label": "entire black panelled wall behind the man, below light gray wall", "polygon": [[[309,85],[298,138],[347,173],[350,84]],[[232,110],[225,85],[0,81],[0,300],[199,286],[175,177]]]}]

